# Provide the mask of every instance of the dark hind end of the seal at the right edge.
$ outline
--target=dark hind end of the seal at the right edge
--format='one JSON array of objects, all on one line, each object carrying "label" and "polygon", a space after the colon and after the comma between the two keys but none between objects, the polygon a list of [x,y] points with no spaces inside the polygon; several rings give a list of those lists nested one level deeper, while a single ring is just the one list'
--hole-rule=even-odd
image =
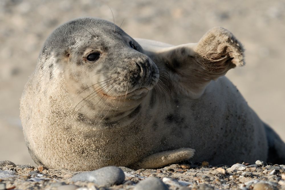
[{"label": "dark hind end of the seal at the right edge", "polygon": [[278,134],[265,123],[264,128],[269,147],[267,162],[272,164],[285,164],[285,143],[280,139]]}]

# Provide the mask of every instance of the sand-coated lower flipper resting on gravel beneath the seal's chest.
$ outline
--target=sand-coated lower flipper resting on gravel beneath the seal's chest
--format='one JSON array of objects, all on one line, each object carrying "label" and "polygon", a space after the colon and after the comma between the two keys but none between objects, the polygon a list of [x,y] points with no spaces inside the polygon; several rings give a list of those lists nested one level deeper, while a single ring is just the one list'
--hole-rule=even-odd
[{"label": "sand-coated lower flipper resting on gravel beneath the seal's chest", "polygon": [[188,160],[194,156],[194,152],[195,150],[192,148],[180,148],[177,150],[158,152],[128,167],[132,169],[159,168],[168,164],[174,164],[183,160]]}]

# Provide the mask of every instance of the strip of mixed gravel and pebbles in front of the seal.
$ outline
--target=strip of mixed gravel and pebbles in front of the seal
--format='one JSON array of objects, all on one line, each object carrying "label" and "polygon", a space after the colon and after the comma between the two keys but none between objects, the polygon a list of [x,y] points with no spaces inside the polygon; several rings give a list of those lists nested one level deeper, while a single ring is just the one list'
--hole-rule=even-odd
[{"label": "strip of mixed gravel and pebbles in front of the seal", "polygon": [[[0,178],[0,187],[31,190],[285,189],[284,165],[275,164],[270,167],[247,165],[246,170],[243,171],[236,169],[245,167],[245,164],[239,163],[217,167],[210,164],[185,162],[159,169],[135,171],[127,167],[109,166],[88,172],[50,169],[42,166],[31,167],[28,164],[15,167],[9,165],[0,166],[1,171],[12,174]],[[41,169],[43,169],[42,172],[39,171]]]}]

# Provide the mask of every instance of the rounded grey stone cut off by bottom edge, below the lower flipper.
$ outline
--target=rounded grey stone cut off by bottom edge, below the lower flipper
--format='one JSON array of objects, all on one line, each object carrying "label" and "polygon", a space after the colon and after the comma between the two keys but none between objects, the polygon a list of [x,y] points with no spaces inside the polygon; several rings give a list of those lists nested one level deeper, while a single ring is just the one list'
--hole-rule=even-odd
[{"label": "rounded grey stone cut off by bottom edge, below the lower flipper", "polygon": [[140,181],[134,190],[168,190],[168,187],[158,178],[150,177]]}]

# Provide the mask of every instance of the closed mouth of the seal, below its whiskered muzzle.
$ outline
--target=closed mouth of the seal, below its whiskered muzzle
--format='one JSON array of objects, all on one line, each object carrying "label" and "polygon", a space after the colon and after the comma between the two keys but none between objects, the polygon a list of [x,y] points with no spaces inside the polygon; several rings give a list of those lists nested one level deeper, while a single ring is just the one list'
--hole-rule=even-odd
[{"label": "closed mouth of the seal, below its whiskered muzzle", "polygon": [[135,89],[133,91],[126,91],[126,93],[124,95],[120,95],[120,96],[109,96],[105,93],[103,93],[103,96],[106,96],[108,98],[111,98],[111,99],[130,99],[130,100],[137,100],[137,99],[141,99],[143,97],[145,97],[148,93],[149,89],[147,88],[138,88],[138,89]]}]

